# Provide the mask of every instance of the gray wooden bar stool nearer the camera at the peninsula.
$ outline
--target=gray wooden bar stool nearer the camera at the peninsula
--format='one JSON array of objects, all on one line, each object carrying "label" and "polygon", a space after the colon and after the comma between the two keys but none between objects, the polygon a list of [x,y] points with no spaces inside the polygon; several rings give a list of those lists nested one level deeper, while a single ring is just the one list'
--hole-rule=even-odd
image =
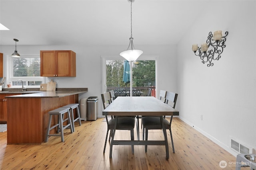
[{"label": "gray wooden bar stool nearer the camera at the peninsula", "polygon": [[[71,118],[70,118],[70,110],[68,107],[60,107],[58,109],[54,109],[52,111],[48,112],[49,115],[49,123],[48,123],[48,128],[47,128],[47,134],[45,138],[45,142],[48,142],[48,137],[49,136],[60,136],[61,141],[64,142],[64,133],[63,130],[66,128],[70,128],[71,133],[73,133],[73,128],[71,124]],[[67,118],[64,119],[64,114],[67,113]],[[52,116],[53,115],[58,115],[58,123],[54,126],[51,127],[51,122],[52,122]],[[63,122],[68,121],[67,125],[63,126]],[[60,132],[60,134],[50,134],[50,130],[54,129],[55,127],[58,127],[57,133]]]}]

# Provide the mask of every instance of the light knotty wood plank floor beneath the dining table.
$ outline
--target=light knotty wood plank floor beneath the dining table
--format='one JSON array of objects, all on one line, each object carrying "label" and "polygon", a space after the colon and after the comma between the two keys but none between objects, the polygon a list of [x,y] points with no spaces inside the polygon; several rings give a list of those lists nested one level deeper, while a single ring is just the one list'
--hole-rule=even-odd
[{"label": "light knotty wood plank floor beneath the dining table", "polygon": [[[134,154],[130,146],[113,146],[112,159],[110,159],[109,143],[106,153],[103,154],[106,137],[106,122],[103,120],[100,118],[96,121],[82,121],[82,126],[76,124],[75,133],[72,134],[69,129],[65,129],[64,143],[60,141],[60,137],[50,137],[49,141],[42,145],[6,145],[7,133],[2,132],[0,133],[1,170],[213,170],[221,169],[219,166],[221,160],[236,162],[236,157],[177,117],[174,117],[172,122],[175,153],[172,153],[170,133],[167,131],[169,160],[166,160],[164,146],[148,146],[148,152],[145,153],[145,147],[137,145],[134,146]],[[115,139],[127,140],[129,137],[128,131],[117,131]],[[162,140],[163,133],[160,130],[150,130],[148,138]],[[234,170],[235,167],[227,166],[224,169]]]}]

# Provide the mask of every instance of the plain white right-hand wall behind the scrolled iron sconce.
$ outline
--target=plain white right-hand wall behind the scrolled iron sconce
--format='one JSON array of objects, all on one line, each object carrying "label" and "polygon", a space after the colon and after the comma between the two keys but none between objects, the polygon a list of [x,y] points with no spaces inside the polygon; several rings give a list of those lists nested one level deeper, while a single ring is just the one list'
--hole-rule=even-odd
[{"label": "plain white right-hand wall behind the scrolled iron sconce", "polygon": [[[178,44],[177,108],[182,120],[236,156],[230,137],[256,149],[256,1],[208,3]],[[228,31],[226,48],[207,67],[191,48],[216,30]]]}]

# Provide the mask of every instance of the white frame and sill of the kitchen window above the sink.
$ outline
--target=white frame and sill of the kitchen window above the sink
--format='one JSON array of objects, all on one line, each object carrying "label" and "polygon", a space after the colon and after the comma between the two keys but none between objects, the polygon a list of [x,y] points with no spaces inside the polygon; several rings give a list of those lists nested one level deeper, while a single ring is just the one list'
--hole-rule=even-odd
[{"label": "white frame and sill of the kitchen window above the sink", "polygon": [[[11,55],[7,55],[7,60],[6,60],[6,84],[9,82],[12,83],[12,88],[20,88],[20,85],[14,85],[13,82],[16,82],[17,80],[21,79],[22,81],[26,82],[26,88],[40,88],[40,85],[28,85],[28,81],[42,81],[42,84],[45,82],[45,78],[42,76],[13,76],[13,59],[16,57],[12,57]],[[35,58],[38,57],[40,58],[40,55],[20,55],[20,57],[26,57],[26,58]],[[41,61],[40,61],[41,62]]]}]

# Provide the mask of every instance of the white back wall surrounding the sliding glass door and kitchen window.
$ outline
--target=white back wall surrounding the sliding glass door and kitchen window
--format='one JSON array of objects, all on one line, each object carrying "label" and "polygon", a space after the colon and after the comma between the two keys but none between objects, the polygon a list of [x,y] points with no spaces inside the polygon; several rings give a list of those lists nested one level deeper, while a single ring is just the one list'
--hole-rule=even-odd
[{"label": "white back wall surrounding the sliding glass door and kitchen window", "polygon": [[[175,91],[177,89],[176,46],[136,45],[136,48],[144,51],[143,55],[159,56],[158,93],[159,89]],[[6,59],[6,55],[13,53],[14,46],[1,46],[0,49]],[[103,108],[100,97],[102,93],[101,56],[116,56],[125,49],[127,46],[17,46],[20,55],[40,55],[40,50],[72,50],[76,52],[76,77],[58,77],[57,88],[88,88],[88,92],[80,95],[79,98],[98,96],[99,117],[102,117]],[[123,58],[120,56],[120,59]],[[4,70],[4,75],[6,75],[6,70]]]}]

